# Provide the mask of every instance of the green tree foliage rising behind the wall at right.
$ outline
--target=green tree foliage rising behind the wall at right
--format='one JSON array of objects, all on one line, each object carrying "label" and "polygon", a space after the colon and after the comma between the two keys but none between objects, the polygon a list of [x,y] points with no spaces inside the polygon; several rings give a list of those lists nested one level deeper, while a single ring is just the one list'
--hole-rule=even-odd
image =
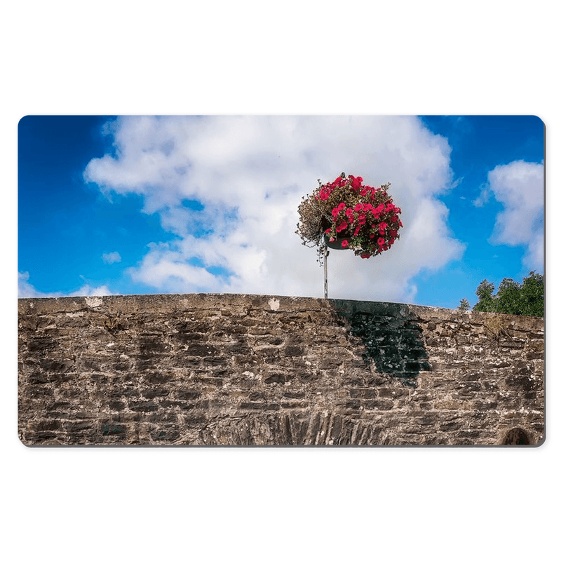
[{"label": "green tree foliage rising behind the wall at right", "polygon": [[504,278],[496,294],[494,290],[494,283],[489,283],[487,279],[483,280],[475,291],[479,302],[473,306],[473,311],[543,318],[543,275],[532,271],[522,284],[516,283],[512,278]]}]

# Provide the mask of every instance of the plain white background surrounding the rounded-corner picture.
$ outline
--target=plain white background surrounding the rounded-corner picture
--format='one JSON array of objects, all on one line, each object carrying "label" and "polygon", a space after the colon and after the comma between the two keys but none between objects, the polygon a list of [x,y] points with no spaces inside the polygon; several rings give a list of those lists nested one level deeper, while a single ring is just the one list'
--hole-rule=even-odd
[{"label": "plain white background surrounding the rounded-corner picture", "polygon": [[[558,18],[503,1],[11,3],[6,558],[552,559]],[[547,127],[547,439],[532,449],[30,449],[17,437],[17,128],[27,114],[536,114]],[[556,157],[557,156],[557,157]],[[555,401],[554,401],[555,400]]]}]

